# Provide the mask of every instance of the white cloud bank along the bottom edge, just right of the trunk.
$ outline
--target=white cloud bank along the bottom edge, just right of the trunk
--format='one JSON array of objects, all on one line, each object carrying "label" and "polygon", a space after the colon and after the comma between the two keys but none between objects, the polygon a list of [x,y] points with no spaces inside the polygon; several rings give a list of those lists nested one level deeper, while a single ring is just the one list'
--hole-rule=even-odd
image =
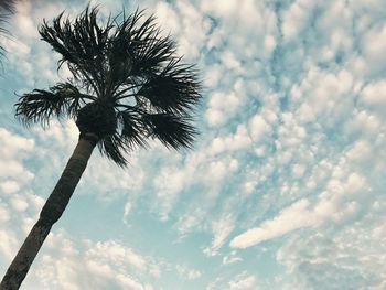
[{"label": "white cloud bank along the bottom edge, just right of the trunk", "polygon": [[51,233],[44,246],[24,281],[29,289],[153,289],[138,278],[153,261],[118,241],[74,244],[64,233]]}]

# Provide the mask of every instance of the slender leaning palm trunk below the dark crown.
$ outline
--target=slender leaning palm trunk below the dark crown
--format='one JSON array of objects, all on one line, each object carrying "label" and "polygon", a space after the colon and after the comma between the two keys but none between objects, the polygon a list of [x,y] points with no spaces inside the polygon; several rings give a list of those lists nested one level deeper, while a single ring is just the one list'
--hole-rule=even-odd
[{"label": "slender leaning palm trunk below the dark crown", "polygon": [[0,290],[19,289],[52,226],[62,216],[74,190],[86,169],[97,142],[97,136],[87,133],[79,141],[65,167],[55,189],[45,202],[39,221],[32,227],[19,253],[0,283]]}]

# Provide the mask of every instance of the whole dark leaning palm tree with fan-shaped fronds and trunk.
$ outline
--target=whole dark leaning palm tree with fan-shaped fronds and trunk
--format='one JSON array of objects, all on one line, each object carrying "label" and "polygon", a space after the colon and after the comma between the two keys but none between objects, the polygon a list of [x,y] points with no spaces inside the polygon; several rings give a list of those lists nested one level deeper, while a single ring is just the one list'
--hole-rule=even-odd
[{"label": "whole dark leaning palm tree with fan-shaped fronds and trunk", "polygon": [[191,148],[196,136],[193,112],[201,82],[192,65],[181,63],[175,43],[162,36],[154,17],[142,11],[97,23],[87,7],[74,21],[63,12],[39,32],[61,54],[73,75],[49,89],[20,96],[15,115],[24,125],[50,125],[53,117],[75,120],[78,143],[39,221],[9,267],[0,289],[19,289],[52,226],[62,216],[97,146],[117,163],[125,154],[159,139],[171,149]]}]

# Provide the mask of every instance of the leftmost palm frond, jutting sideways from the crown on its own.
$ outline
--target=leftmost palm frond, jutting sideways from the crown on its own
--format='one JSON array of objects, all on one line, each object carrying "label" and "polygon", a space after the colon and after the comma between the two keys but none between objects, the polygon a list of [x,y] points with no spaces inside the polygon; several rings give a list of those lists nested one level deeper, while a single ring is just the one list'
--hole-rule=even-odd
[{"label": "leftmost palm frond, jutting sideways from the crown on its own", "polygon": [[21,95],[15,104],[15,116],[24,125],[46,126],[52,117],[74,117],[85,99],[92,97],[81,94],[72,84],[57,84],[49,90],[34,89]]}]

